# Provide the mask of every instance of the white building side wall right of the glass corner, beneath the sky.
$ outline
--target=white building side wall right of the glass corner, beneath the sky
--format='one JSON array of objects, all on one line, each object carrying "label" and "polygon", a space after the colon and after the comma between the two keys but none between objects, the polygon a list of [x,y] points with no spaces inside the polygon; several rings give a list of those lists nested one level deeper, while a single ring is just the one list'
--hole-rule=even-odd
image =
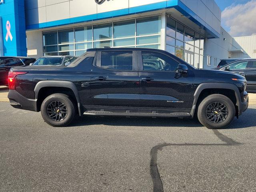
[{"label": "white building side wall right of the glass corner, beneath the sky", "polygon": [[[207,65],[207,56],[211,56],[211,66]],[[217,58],[218,65],[221,59],[250,58],[250,56],[228,32],[221,28],[220,38],[206,39],[204,68],[214,68],[214,58]]]}]

